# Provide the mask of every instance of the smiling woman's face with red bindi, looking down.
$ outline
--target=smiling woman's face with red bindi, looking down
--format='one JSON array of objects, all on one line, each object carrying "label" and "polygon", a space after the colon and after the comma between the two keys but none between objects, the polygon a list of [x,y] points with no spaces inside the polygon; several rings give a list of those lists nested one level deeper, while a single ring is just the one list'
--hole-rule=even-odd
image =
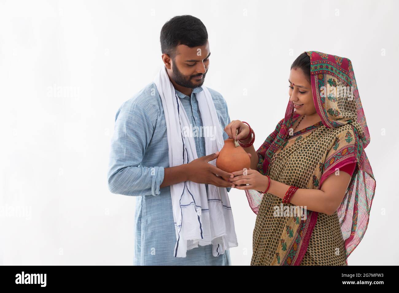
[{"label": "smiling woman's face with red bindi, looking down", "polygon": [[294,102],[294,108],[299,115],[312,115],[316,113],[314,107],[312,85],[305,77],[302,69],[292,68],[288,79],[290,88],[288,94],[290,101]]}]

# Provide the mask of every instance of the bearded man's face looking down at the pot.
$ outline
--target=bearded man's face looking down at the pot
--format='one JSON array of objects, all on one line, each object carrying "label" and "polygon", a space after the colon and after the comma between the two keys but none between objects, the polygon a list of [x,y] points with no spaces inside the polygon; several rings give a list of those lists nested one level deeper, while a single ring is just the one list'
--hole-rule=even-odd
[{"label": "bearded man's face looking down at the pot", "polygon": [[172,73],[175,83],[186,88],[201,87],[209,67],[209,43],[199,47],[178,45],[172,59]]}]

